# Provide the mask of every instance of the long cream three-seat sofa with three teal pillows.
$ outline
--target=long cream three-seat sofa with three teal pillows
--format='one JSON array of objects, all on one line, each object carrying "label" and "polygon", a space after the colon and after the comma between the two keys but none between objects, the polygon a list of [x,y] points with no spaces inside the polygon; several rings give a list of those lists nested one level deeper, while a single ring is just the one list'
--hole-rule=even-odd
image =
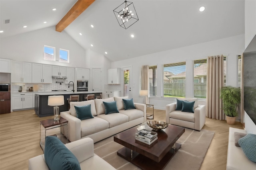
[{"label": "long cream three-seat sofa with three teal pillows", "polygon": [[[63,111],[60,116],[68,120],[68,139],[76,141],[90,137],[94,143],[120,133],[126,129],[146,122],[146,105],[134,103],[136,109],[124,110],[122,99],[127,97],[114,97],[108,99],[95,99],[83,102],[70,102],[70,110]],[[120,113],[105,114],[103,102],[116,101],[117,109]],[[80,120],[76,117],[74,106],[85,106],[91,104],[92,119]],[[66,127],[62,127],[66,128]],[[62,132],[66,132],[63,129]],[[65,136],[66,133],[64,133]]]}]

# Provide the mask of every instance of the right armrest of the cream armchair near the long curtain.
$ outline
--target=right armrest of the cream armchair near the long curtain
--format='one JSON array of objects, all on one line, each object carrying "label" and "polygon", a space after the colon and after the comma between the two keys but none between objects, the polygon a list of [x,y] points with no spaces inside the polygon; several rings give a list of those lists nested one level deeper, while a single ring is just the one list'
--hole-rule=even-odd
[{"label": "right armrest of the cream armchair near the long curtain", "polygon": [[196,109],[194,109],[194,129],[200,131],[205,124],[205,117],[206,117],[206,106],[205,105],[198,105]]}]

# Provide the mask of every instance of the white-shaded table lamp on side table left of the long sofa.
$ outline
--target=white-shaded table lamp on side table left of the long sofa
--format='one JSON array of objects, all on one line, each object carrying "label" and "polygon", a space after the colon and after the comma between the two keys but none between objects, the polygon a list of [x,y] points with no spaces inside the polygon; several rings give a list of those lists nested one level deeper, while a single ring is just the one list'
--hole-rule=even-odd
[{"label": "white-shaded table lamp on side table left of the long sofa", "polygon": [[48,106],[54,106],[54,121],[59,118],[59,106],[64,105],[64,96],[48,96]]}]

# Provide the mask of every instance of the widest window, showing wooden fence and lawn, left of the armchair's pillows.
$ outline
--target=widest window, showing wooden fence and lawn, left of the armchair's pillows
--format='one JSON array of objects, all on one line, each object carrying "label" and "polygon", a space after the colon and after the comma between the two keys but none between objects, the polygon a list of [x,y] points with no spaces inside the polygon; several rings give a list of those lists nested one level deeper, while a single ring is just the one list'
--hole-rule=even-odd
[{"label": "widest window, showing wooden fence and lawn, left of the armchair's pillows", "polygon": [[164,64],[164,97],[185,97],[186,62]]}]

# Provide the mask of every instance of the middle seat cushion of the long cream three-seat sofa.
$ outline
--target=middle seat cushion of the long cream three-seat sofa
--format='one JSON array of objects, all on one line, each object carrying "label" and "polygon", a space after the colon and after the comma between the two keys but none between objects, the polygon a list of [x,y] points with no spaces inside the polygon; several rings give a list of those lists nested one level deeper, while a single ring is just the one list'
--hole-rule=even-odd
[{"label": "middle seat cushion of the long cream three-seat sofa", "polygon": [[128,122],[129,117],[121,113],[101,114],[97,117],[108,121],[109,128]]}]

